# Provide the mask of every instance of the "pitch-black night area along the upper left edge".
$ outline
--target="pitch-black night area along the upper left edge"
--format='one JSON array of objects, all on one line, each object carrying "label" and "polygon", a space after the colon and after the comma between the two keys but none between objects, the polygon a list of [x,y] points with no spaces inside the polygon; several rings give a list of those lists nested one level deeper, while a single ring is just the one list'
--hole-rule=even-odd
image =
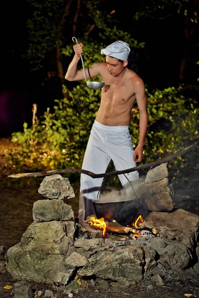
[{"label": "pitch-black night area along the upper left edge", "polygon": [[32,103],[42,101],[41,77],[23,57],[28,47],[26,1],[4,2],[1,19],[0,137],[31,123]]}]

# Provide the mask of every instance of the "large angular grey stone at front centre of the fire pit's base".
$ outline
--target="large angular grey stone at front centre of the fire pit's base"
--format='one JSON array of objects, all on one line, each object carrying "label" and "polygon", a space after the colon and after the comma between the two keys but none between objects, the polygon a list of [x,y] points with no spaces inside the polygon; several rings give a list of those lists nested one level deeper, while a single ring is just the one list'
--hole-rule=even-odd
[{"label": "large angular grey stone at front centre of the fire pit's base", "polygon": [[142,280],[143,266],[144,251],[141,246],[132,244],[96,253],[78,273],[80,276],[95,275],[130,287]]}]

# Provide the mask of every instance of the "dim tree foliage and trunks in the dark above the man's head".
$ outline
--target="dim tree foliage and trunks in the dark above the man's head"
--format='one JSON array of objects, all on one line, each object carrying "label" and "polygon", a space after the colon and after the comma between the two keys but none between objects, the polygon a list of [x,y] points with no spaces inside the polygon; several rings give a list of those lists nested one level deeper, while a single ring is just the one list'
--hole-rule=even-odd
[{"label": "dim tree foliage and trunks in the dark above the man's head", "polygon": [[[176,68],[179,68],[177,80],[184,82],[189,77],[190,69],[187,65],[192,66],[198,60],[194,54],[199,44],[198,0],[132,1],[132,9],[128,9],[128,0],[124,0],[122,6],[119,0],[28,0],[28,3],[31,13],[27,21],[29,48],[26,57],[33,70],[43,68],[44,74],[47,74],[53,69],[64,84],[67,84],[64,75],[69,60],[63,56],[63,52],[66,52],[68,46],[71,51],[72,36],[81,42],[89,41],[102,46],[123,39],[132,50],[141,49],[138,53],[145,56],[147,64],[148,59],[152,59],[147,51],[150,38],[158,40],[158,27],[167,20],[165,26],[170,24],[172,28],[175,20],[173,29],[179,28],[176,37],[183,45],[179,48],[178,59],[181,61],[176,61]],[[155,31],[151,20],[156,21]],[[149,28],[147,32],[150,32],[150,26],[151,35],[145,51],[142,51],[146,41],[142,28]],[[168,31],[165,43],[170,43],[172,48],[170,35]],[[160,51],[159,55],[164,53]]]}]

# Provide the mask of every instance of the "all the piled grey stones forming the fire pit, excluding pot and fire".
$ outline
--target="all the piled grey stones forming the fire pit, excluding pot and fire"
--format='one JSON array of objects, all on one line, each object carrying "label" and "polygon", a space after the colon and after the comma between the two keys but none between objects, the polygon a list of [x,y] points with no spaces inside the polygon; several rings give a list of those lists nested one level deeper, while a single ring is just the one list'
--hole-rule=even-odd
[{"label": "all the piled grey stones forming the fire pit, excluding pot and fire", "polygon": [[[48,177],[43,185],[43,195],[50,183],[51,190],[47,190],[45,195],[52,200],[34,203],[34,223],[24,232],[20,243],[8,249],[7,271],[14,279],[25,280],[25,283],[30,280],[60,285],[58,288],[63,294],[70,297],[76,291],[76,282],[69,283],[75,275],[96,277],[95,282],[91,280],[91,287],[101,290],[108,290],[110,285],[133,290],[144,277],[151,279],[156,286],[163,286],[172,272],[195,265],[192,274],[198,274],[199,217],[184,210],[161,212],[172,211],[174,206],[173,188],[165,177],[167,174],[166,164],[152,169],[144,182],[136,184],[139,192],[133,199],[152,211],[143,218],[146,227],[156,229],[160,237],[149,234],[148,229],[135,240],[126,238],[120,241],[74,238],[77,225],[72,221],[73,212],[71,206],[62,201],[67,193],[66,181],[60,175],[54,175],[53,179]],[[61,189],[60,193],[58,189]],[[24,285],[27,290],[28,284]],[[45,294],[40,291],[40,296],[54,297],[48,296],[53,292],[47,291]],[[39,292],[37,294],[39,296]]]}]

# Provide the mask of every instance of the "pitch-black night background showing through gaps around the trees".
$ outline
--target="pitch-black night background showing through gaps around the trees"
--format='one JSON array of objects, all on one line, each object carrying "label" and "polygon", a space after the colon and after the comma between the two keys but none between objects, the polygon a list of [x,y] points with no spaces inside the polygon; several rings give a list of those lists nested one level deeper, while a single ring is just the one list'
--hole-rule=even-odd
[{"label": "pitch-black night background showing through gaps around the trees", "polygon": [[[14,131],[21,131],[26,121],[31,125],[32,104],[38,104],[37,115],[42,116],[47,107],[52,108],[54,99],[60,94],[56,85],[42,83],[47,71],[31,71],[29,61],[23,57],[28,49],[26,20],[30,14],[26,1],[14,1],[3,4],[1,18],[1,83],[0,83],[0,137],[10,136]],[[11,7],[10,7],[11,6]],[[120,7],[116,14],[124,14],[127,22],[132,11]],[[162,20],[147,18],[137,23],[133,38],[145,41],[145,49],[139,51],[139,74],[150,91],[155,88],[177,86],[179,66],[185,47],[184,28],[178,17]],[[120,24],[122,27],[122,24]],[[196,34],[197,36],[197,34]],[[194,42],[196,42],[194,40]],[[190,57],[196,57],[198,48],[192,50]],[[196,83],[197,65],[188,63],[187,83]],[[65,70],[67,64],[64,65]]]}]

